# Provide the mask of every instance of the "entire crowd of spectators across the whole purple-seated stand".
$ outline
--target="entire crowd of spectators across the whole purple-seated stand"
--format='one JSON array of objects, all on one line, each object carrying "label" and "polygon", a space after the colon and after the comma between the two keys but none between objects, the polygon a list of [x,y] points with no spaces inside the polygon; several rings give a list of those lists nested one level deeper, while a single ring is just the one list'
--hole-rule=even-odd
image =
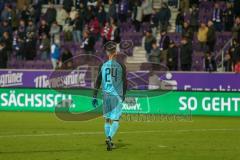
[{"label": "entire crowd of spectators across the whole purple-seated stand", "polygon": [[[162,63],[170,70],[191,70],[196,35],[199,50],[205,54],[205,70],[216,71],[216,33],[232,32],[233,43],[225,54],[224,67],[233,71],[240,59],[240,2],[225,0],[227,7],[222,9],[219,1],[214,1],[207,22],[199,20],[200,3],[169,0],[160,9],[153,9],[152,0],[34,0],[18,8],[14,0],[0,0],[0,68],[7,68],[13,56],[34,60],[37,52],[41,60],[51,59],[54,69],[62,65],[70,68],[72,62],[64,62],[73,54],[66,48],[62,51],[61,43],[79,43],[85,54],[94,54],[100,39],[103,46],[108,41],[120,43],[120,24],[131,20],[135,32],[144,34],[149,62]],[[47,9],[43,12],[44,5]],[[168,36],[172,16],[169,5],[179,10],[175,32],[181,34],[180,44]],[[144,22],[150,24],[150,29],[141,30]]]}]

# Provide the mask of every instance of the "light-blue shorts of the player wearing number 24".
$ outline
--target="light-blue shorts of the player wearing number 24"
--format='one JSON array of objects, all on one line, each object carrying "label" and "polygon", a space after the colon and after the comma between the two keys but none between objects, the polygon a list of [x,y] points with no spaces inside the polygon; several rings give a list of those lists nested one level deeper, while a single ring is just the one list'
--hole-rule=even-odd
[{"label": "light-blue shorts of the player wearing number 24", "polygon": [[122,115],[122,97],[103,94],[103,117],[111,120],[119,120]]}]

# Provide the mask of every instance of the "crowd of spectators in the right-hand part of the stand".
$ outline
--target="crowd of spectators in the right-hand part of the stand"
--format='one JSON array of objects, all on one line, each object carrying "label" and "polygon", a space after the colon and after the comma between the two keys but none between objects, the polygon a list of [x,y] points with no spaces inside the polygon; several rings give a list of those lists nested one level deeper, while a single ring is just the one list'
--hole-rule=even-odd
[{"label": "crowd of spectators in the right-hand part of the stand", "polygon": [[[171,2],[174,6],[177,6],[175,5],[176,1]],[[211,17],[207,21],[199,18],[199,7],[206,10],[206,8],[200,6],[200,3],[200,1],[194,0],[182,0],[180,3],[175,21],[175,32],[181,35],[180,44],[172,41],[166,33],[171,17],[168,5],[163,3],[162,8],[157,13],[153,12],[153,27],[145,33],[143,44],[150,62],[160,62],[167,65],[170,70],[178,70],[178,61],[180,60],[180,70],[191,71],[194,52],[193,41],[196,37],[199,46],[198,52],[203,52],[205,57],[205,71],[217,71],[218,64],[215,59],[216,34],[231,32],[234,43],[225,54],[224,68],[225,71],[235,70],[235,66],[240,60],[240,1],[213,1]],[[220,7],[220,3],[224,4],[226,8]],[[158,17],[158,20],[155,17]],[[157,27],[160,30],[160,40],[157,42],[158,48],[155,47],[157,41],[155,28]],[[180,54],[178,54],[179,52]]]}]

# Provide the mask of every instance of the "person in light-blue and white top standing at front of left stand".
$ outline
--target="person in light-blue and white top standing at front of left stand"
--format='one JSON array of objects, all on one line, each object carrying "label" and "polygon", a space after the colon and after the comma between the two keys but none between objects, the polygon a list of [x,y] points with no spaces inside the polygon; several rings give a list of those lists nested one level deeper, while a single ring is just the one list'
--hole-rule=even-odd
[{"label": "person in light-blue and white top standing at front of left stand", "polygon": [[53,69],[57,69],[59,58],[60,58],[60,40],[56,38],[54,39],[54,42],[51,45],[51,61]]}]

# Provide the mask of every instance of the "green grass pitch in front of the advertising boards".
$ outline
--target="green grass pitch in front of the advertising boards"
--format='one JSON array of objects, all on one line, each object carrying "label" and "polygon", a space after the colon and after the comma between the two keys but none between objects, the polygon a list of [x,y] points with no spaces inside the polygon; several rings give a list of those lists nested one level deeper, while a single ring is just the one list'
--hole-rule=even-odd
[{"label": "green grass pitch in front of the advertising boards", "polygon": [[0,112],[0,160],[238,160],[240,118],[122,121],[106,151],[103,119],[64,122],[53,113]]}]

